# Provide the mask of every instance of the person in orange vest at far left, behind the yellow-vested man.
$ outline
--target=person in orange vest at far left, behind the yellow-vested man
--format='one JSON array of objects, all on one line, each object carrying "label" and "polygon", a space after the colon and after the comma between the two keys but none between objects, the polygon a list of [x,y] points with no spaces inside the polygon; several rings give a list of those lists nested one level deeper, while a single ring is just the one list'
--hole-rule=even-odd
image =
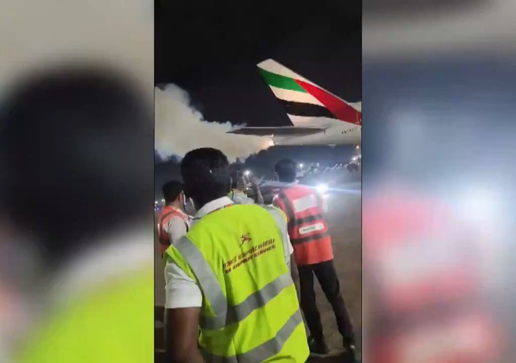
[{"label": "person in orange vest at far left, behind the yellow-vested man", "polygon": [[190,217],[183,211],[185,195],[181,182],[172,180],[163,185],[165,206],[158,216],[159,244],[162,256],[171,243],[190,229]]}]

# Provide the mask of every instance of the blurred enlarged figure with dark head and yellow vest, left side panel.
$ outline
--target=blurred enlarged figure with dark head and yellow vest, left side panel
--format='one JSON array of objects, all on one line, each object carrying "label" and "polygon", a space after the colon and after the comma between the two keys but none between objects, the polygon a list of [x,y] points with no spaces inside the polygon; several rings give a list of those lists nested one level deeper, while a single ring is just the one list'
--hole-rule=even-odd
[{"label": "blurred enlarged figure with dark head and yellow vest, left side panel", "polygon": [[36,249],[25,258],[39,268],[20,268],[42,312],[14,361],[153,361],[153,130],[140,100],[112,71],[74,66],[1,102],[4,243]]}]

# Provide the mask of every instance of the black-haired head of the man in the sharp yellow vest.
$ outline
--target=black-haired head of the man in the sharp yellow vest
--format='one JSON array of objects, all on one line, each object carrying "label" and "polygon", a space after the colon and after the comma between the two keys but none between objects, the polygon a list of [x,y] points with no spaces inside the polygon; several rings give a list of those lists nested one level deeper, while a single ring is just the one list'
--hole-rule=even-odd
[{"label": "black-haired head of the man in the sharp yellow vest", "polygon": [[181,161],[181,176],[185,196],[193,200],[197,209],[231,190],[228,158],[217,149],[189,151]]}]

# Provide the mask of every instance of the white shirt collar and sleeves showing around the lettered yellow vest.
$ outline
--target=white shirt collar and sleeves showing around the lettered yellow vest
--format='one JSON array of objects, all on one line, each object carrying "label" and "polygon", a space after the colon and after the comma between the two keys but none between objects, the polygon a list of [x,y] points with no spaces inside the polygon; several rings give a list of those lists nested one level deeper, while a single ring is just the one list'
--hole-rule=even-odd
[{"label": "white shirt collar and sleeves showing around the lettered yellow vest", "polygon": [[[216,209],[234,204],[229,197],[222,197],[206,203],[193,217],[192,227],[206,214]],[[286,223],[285,223],[286,224]],[[286,230],[286,227],[285,227]],[[292,245],[288,234],[283,241],[285,251],[285,263],[290,265],[290,255]],[[193,308],[202,306],[202,293],[197,282],[191,279],[181,268],[172,261],[168,261],[165,266],[165,308]]]}]

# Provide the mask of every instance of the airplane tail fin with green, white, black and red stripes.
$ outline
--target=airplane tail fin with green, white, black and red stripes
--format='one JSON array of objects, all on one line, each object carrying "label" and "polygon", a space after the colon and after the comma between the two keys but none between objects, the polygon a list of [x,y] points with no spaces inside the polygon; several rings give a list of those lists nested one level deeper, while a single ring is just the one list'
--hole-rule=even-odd
[{"label": "airplane tail fin with green, white, black and red stripes", "polygon": [[273,59],[259,63],[264,81],[296,127],[324,128],[335,120],[362,125],[362,112]]}]

